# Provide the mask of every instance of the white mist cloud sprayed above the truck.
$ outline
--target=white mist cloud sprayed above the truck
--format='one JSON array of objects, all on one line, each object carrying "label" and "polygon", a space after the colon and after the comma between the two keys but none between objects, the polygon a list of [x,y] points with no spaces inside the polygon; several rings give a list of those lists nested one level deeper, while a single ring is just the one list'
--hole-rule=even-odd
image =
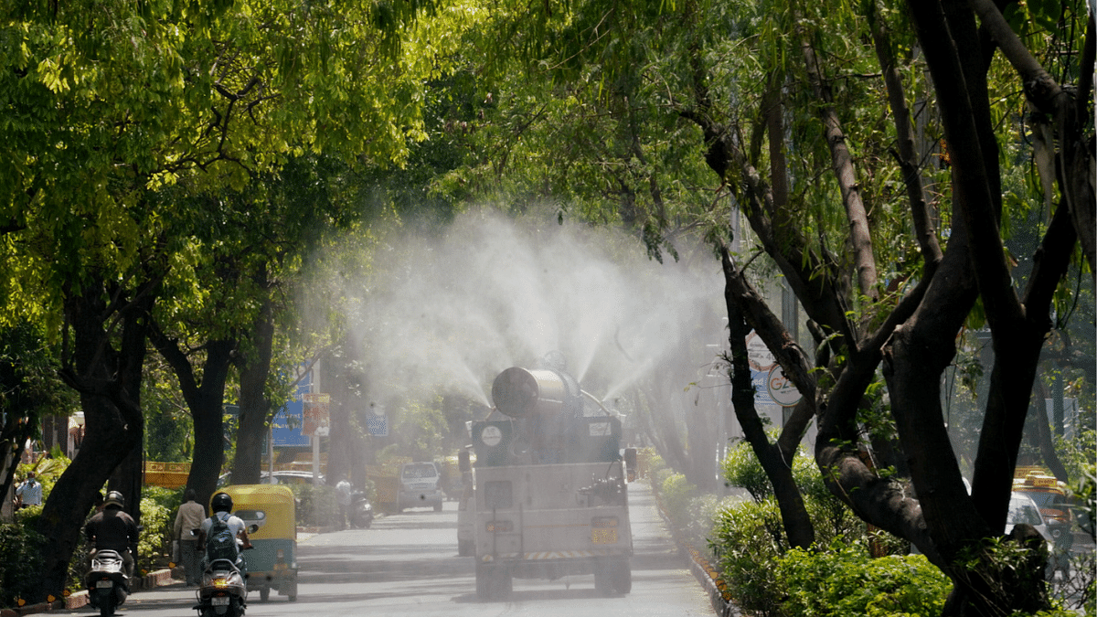
[{"label": "white mist cloud sprayed above the truck", "polygon": [[699,311],[723,296],[715,259],[660,265],[633,237],[554,220],[471,213],[437,235],[389,245],[375,261],[371,291],[364,281],[348,290],[360,298],[375,401],[393,388],[461,392],[490,405],[495,375],[532,368],[552,350],[600,397],[644,378],[693,332]]}]

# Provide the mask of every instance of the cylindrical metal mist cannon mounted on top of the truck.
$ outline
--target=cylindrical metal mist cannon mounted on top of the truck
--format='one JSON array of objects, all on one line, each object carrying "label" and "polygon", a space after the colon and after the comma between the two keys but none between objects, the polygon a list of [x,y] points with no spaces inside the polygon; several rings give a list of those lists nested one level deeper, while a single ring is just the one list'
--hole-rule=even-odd
[{"label": "cylindrical metal mist cannon mounted on top of the truck", "polygon": [[565,413],[583,414],[579,384],[567,373],[511,367],[491,383],[495,407],[514,418]]}]

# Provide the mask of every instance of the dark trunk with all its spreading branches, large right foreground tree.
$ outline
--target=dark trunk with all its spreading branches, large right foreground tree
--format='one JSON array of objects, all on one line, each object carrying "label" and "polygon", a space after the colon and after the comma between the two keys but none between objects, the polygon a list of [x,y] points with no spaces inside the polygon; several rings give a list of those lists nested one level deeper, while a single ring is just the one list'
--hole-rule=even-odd
[{"label": "dark trunk with all its spreading branches, large right foreground tree", "polygon": [[[738,149],[732,139],[719,147],[728,155],[730,161],[738,165],[745,198],[740,201],[749,204],[747,212],[753,229],[767,244],[767,253],[781,265],[807,313],[830,337],[827,344],[835,355],[827,362],[818,363],[827,366],[826,380],[808,372],[814,367],[806,355],[778,356],[801,392],[811,393],[811,399],[821,405],[816,460],[833,482],[835,494],[866,520],[917,543],[949,575],[955,587],[945,614],[1034,610],[1047,606],[1041,577],[1013,579],[1010,566],[995,563],[988,553],[981,553],[985,559],[969,560],[968,557],[983,538],[997,535],[1004,526],[1036,363],[1050,326],[1048,316],[1053,292],[1073,255],[1076,235],[1075,223],[1070,218],[1070,203],[1078,197],[1077,191],[1085,193],[1092,188],[1087,189],[1085,182],[1062,187],[1064,201],[1043,229],[1038,265],[1026,287],[1015,291],[999,235],[1004,215],[998,201],[1002,194],[999,158],[989,105],[989,97],[994,96],[988,83],[989,57],[973,47],[980,34],[971,13],[941,11],[932,4],[912,8],[914,32],[937,85],[937,106],[952,171],[950,203],[942,203],[942,206],[952,207],[951,216],[945,218],[952,233],[942,253],[937,248],[935,236],[927,235],[932,233],[932,227],[924,225],[931,222],[923,205],[927,200],[917,199],[925,194],[925,189],[908,173],[905,177],[907,191],[916,197],[909,201],[912,229],[920,233],[916,237],[920,238],[920,255],[925,261],[923,272],[913,279],[913,284],[901,298],[884,301],[883,290],[873,277],[867,276],[864,267],[878,259],[870,253],[874,245],[868,235],[863,238],[868,244],[858,242],[856,234],[846,240],[863,246],[863,253],[853,251],[860,266],[859,281],[853,288],[859,290],[859,296],[840,291],[844,274],[837,268],[838,260],[824,253],[826,246],[812,246],[805,242],[805,235],[790,236],[788,226],[783,237],[771,232],[776,226],[769,225],[779,221],[783,213],[774,207],[773,191],[760,181],[747,153]],[[997,9],[991,7],[980,11],[984,36],[995,30],[997,22],[1004,23]],[[873,36],[882,49],[881,66],[886,75],[894,64],[884,29],[894,22],[887,22],[879,13],[868,16],[877,20]],[[1076,14],[1067,13],[1064,19],[1076,19]],[[983,41],[994,41],[999,46],[1018,42],[1011,32],[1000,29]],[[1017,49],[1011,53],[1025,55]],[[1022,75],[1025,83],[1029,83],[1033,75]],[[887,86],[893,94],[900,94],[895,91],[898,83]],[[1058,89],[1058,85],[1051,82],[1045,86]],[[1032,100],[1033,94],[1029,91],[1030,104],[1045,104]],[[893,115],[904,121],[896,123],[902,141],[908,134],[903,130],[908,112],[896,103],[903,100],[901,94],[891,100]],[[1073,101],[1070,104],[1073,105]],[[1047,105],[1044,109],[1054,112]],[[1073,124],[1068,117],[1061,120],[1060,131],[1066,131],[1060,135],[1064,143],[1085,141],[1081,132],[1084,127]],[[773,141],[780,136],[770,133],[769,138]],[[1070,158],[1077,154],[1064,153],[1064,156]],[[917,159],[907,157],[907,160]],[[1068,161],[1064,169],[1075,164]],[[731,171],[724,170],[725,173]],[[771,167],[770,176],[780,172]],[[841,177],[840,170],[838,176]],[[856,232],[859,223],[853,215],[859,209],[851,209],[846,195],[846,188],[853,186],[850,182],[842,192],[849,228]],[[790,259],[798,253],[804,257]],[[754,304],[751,312],[747,308],[751,303],[740,300],[747,294],[732,292],[736,281],[744,279],[727,254],[725,271],[730,312],[733,304],[742,304],[743,318],[758,327],[771,349],[781,348],[782,339],[787,340],[781,328],[760,327],[765,315],[762,307]],[[955,335],[972,315],[976,295],[992,332],[995,363],[984,408],[973,490],[969,496],[945,430],[939,384],[955,354]],[[838,311],[841,306],[858,305],[863,311],[860,322]],[[859,411],[870,395],[869,388],[878,368],[882,368],[887,383],[891,413],[896,422],[900,445],[911,462],[917,500],[904,495],[895,478],[868,465],[858,448],[863,439]],[[1007,580],[1013,584],[1005,583]]]}]

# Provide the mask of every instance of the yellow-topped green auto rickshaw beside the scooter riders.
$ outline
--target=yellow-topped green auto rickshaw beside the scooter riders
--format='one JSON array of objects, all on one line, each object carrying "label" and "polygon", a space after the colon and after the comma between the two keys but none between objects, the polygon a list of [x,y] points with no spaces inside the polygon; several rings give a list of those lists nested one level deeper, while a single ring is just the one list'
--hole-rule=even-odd
[{"label": "yellow-topped green auto rickshaw beside the scooter riders", "polygon": [[255,547],[244,551],[248,590],[258,591],[263,602],[271,590],[295,602],[297,523],[293,491],[281,484],[238,484],[222,491],[233,497],[233,514],[248,526],[248,537]]}]

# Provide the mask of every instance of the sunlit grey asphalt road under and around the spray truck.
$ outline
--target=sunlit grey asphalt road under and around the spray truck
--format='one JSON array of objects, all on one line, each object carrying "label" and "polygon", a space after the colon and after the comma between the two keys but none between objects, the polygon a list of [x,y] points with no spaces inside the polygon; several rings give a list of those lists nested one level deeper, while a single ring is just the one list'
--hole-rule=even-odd
[{"label": "sunlit grey asphalt road under and around the spray truck", "polygon": [[[490,617],[644,617],[713,615],[708,597],[677,554],[645,483],[630,486],[635,554],[632,593],[603,597],[592,575],[558,581],[516,579],[506,601],[476,598],[473,559],[457,557],[456,503],[442,512],[409,509],[378,518],[370,529],[298,538],[296,602],[272,593],[249,597],[248,617],[370,615]],[[182,617],[194,591],[181,584],[132,596],[120,615]],[[90,608],[68,613],[98,615]]]}]

